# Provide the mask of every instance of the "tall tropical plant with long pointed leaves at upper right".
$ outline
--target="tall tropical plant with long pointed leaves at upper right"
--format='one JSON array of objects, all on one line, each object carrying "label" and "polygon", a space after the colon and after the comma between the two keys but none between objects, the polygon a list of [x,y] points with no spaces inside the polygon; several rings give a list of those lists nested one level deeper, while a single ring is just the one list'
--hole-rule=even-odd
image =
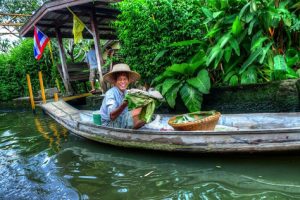
[{"label": "tall tropical plant with long pointed leaves at upper right", "polygon": [[[280,56],[292,46],[299,49],[295,34],[299,32],[299,14],[293,9],[299,6],[296,1],[239,2],[239,12],[232,5],[218,12],[202,8],[206,16],[204,25],[209,27],[205,38],[211,43],[206,64],[221,72],[216,73],[216,82],[237,85],[297,78],[291,65],[299,63],[299,58],[294,54],[286,65],[286,58]],[[294,34],[298,38],[295,44],[291,40]]]}]

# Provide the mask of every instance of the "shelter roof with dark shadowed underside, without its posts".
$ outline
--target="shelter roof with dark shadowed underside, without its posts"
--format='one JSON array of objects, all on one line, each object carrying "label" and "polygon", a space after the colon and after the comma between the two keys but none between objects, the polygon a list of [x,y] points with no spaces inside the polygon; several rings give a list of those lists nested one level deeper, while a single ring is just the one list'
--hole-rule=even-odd
[{"label": "shelter roof with dark shadowed underside, without its posts", "polygon": [[[95,12],[100,39],[116,39],[115,30],[110,23],[117,18],[119,11],[110,6],[120,0],[56,0],[41,6],[21,28],[20,35],[33,37],[34,25],[49,37],[56,37],[55,28],[59,28],[63,38],[73,38],[73,15],[69,7],[80,20],[91,29],[90,17]],[[93,38],[84,29],[84,38]]]}]

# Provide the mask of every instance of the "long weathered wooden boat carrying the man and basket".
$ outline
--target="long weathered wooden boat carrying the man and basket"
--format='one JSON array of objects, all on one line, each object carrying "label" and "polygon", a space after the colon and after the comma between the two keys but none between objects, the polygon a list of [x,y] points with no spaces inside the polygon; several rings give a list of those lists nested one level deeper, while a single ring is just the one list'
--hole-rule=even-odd
[{"label": "long weathered wooden boat carrying the man and basket", "polygon": [[76,135],[122,147],[202,153],[300,150],[299,112],[226,114],[219,120],[219,129],[185,132],[95,125],[84,119],[91,112],[64,101],[43,104],[42,108]]}]

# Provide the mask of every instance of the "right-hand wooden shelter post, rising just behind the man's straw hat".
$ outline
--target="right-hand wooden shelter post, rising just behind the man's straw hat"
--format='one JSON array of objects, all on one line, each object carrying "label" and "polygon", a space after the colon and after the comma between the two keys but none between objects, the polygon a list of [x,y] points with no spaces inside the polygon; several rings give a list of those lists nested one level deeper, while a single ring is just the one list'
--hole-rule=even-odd
[{"label": "right-hand wooden shelter post, rising just behind the man's straw hat", "polygon": [[93,39],[94,39],[94,44],[95,44],[95,51],[96,51],[96,58],[97,58],[97,65],[98,65],[98,72],[99,72],[99,81],[100,81],[100,86],[102,92],[106,91],[105,84],[103,82],[103,75],[102,75],[102,69],[101,66],[104,64],[103,63],[103,58],[102,58],[102,53],[100,50],[100,38],[99,38],[99,32],[98,32],[98,24],[97,24],[97,19],[96,19],[96,14],[95,11],[93,10],[91,13],[91,27],[92,27],[92,32],[93,32]]}]

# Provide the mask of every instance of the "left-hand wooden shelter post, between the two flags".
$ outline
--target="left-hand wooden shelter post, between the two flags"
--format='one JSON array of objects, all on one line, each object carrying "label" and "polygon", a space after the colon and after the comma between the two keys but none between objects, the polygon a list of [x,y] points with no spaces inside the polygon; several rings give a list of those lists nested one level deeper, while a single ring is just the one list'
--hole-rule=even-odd
[{"label": "left-hand wooden shelter post, between the two flags", "polygon": [[62,36],[61,36],[61,32],[59,30],[59,28],[55,29],[56,32],[56,38],[58,41],[58,46],[59,46],[59,57],[60,57],[60,62],[61,62],[61,68],[62,68],[62,72],[63,72],[63,82],[64,82],[64,86],[67,90],[67,93],[71,93],[73,94],[74,91],[71,87],[70,81],[69,81],[69,73],[68,73],[68,67],[67,67],[67,61],[66,61],[66,54],[65,54],[65,49],[63,46],[63,42],[62,42]]}]

